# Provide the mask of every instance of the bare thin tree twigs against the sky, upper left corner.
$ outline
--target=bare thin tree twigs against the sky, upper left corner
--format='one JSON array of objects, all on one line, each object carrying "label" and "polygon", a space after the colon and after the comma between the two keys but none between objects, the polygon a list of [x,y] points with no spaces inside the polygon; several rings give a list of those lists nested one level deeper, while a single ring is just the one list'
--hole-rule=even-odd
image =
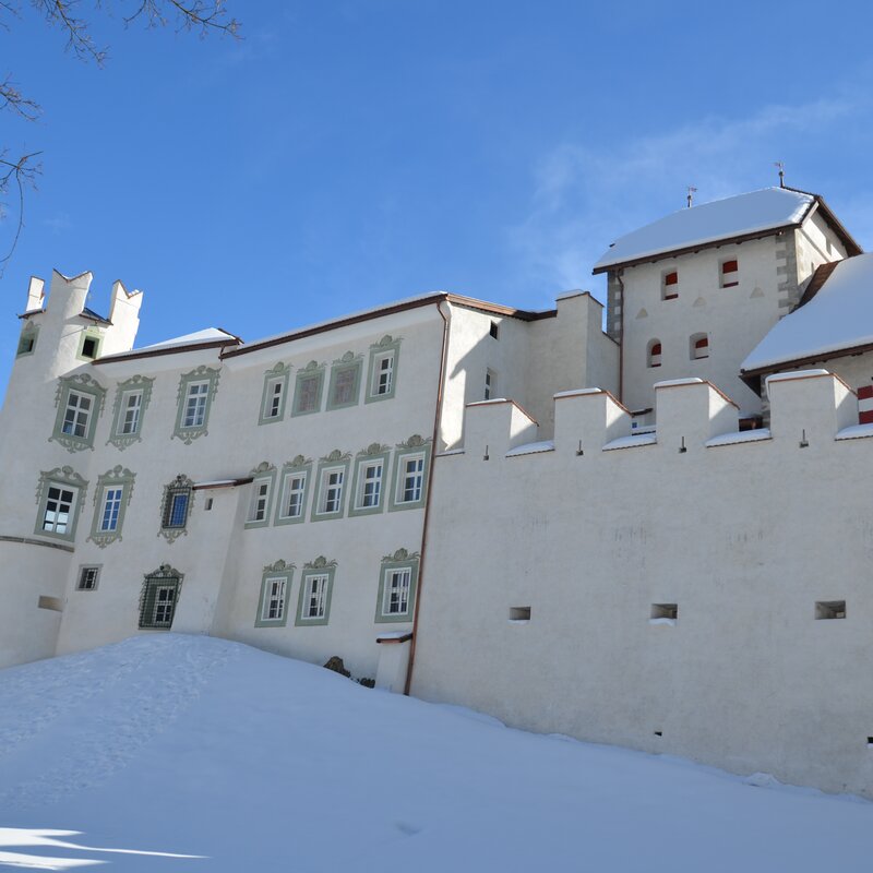
[{"label": "bare thin tree twigs against the sky, upper left corner", "polygon": [[[108,47],[98,45],[89,22],[81,16],[81,0],[29,0],[29,5],[43,15],[46,23],[58,27],[67,35],[67,50],[83,61],[103,67],[108,58]],[[228,15],[225,0],[132,0],[120,5],[130,9],[122,15],[125,25],[142,21],[148,27],[165,27],[175,22],[180,31],[195,31],[201,36],[210,33],[239,37],[239,22]],[[97,3],[99,9],[100,4]],[[104,7],[106,9],[106,7]],[[12,22],[20,17],[21,5],[13,0],[0,0],[0,36],[12,29]],[[26,97],[12,74],[4,72],[0,79],[0,111],[9,111],[24,121],[35,121],[41,113],[39,104]],[[35,160],[39,152],[9,157],[9,150],[0,144],[0,222],[7,217],[4,199],[14,194],[17,222],[12,240],[0,256],[0,278],[15,251],[24,228],[24,190],[35,188],[41,172],[41,164]]]}]

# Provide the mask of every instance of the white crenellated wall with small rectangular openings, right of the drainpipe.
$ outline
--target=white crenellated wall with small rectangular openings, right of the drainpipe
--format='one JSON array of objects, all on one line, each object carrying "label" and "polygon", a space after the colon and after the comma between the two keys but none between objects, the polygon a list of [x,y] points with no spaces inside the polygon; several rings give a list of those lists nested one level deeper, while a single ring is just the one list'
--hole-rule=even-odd
[{"label": "white crenellated wall with small rectangular openings, right of the drainpipe", "polygon": [[770,380],[769,430],[699,380],[655,395],[634,433],[610,394],[559,394],[539,442],[510,403],[467,407],[434,467],[412,693],[873,797],[873,426],[823,371]]}]

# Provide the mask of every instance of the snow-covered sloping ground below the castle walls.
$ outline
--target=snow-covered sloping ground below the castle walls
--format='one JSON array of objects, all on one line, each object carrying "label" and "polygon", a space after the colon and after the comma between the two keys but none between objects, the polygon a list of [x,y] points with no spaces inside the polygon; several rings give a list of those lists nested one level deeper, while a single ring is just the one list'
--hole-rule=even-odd
[{"label": "snow-covered sloping ground below the castle walls", "polygon": [[0,869],[871,870],[873,803],[752,781],[206,637],[0,671]]}]

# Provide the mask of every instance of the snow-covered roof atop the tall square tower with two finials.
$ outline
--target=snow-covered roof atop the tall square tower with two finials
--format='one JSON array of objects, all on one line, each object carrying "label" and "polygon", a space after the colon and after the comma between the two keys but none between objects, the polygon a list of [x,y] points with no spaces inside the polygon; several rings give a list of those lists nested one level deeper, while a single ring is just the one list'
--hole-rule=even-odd
[{"label": "snow-covered roof atop the tall square tower with two finials", "polygon": [[788,188],[765,188],[680,210],[618,239],[594,265],[595,273],[644,258],[799,225],[815,201]]}]

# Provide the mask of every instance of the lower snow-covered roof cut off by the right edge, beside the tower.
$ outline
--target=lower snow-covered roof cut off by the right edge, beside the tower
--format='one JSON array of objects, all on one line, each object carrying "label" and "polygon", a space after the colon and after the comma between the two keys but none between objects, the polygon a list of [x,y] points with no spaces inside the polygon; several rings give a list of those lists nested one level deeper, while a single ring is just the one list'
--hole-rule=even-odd
[{"label": "lower snow-covered roof cut off by the right edge, beside the tower", "polygon": [[873,345],[873,254],[840,261],[818,292],[777,322],[742,363],[757,371]]}]

